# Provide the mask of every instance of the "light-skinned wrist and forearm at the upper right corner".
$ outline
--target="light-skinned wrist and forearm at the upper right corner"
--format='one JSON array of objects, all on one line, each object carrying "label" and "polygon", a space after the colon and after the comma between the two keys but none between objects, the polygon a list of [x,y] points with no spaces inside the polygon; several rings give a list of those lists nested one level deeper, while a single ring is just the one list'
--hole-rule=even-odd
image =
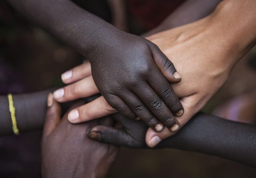
[{"label": "light-skinned wrist and forearm at the upper right corner", "polygon": [[224,0],[209,16],[209,29],[226,50],[230,61],[225,62],[230,63],[231,68],[255,45],[255,8],[254,0]]}]

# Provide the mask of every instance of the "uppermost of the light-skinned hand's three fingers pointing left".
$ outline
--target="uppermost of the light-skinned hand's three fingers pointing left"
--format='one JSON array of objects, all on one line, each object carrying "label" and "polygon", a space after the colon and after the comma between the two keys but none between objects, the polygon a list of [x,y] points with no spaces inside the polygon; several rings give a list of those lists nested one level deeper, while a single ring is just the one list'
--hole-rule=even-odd
[{"label": "uppermost of the light-skinned hand's three fingers pointing left", "polygon": [[91,64],[89,61],[85,61],[83,64],[61,74],[61,80],[64,84],[70,84],[90,75]]}]

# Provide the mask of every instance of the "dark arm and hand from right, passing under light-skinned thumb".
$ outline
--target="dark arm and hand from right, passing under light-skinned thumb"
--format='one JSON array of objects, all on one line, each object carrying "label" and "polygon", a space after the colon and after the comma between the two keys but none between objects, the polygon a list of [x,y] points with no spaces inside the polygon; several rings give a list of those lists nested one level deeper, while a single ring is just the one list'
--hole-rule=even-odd
[{"label": "dark arm and hand from right, passing under light-skinned thumb", "polygon": [[[89,136],[100,142],[124,147],[149,148],[145,143],[147,125],[129,120],[121,114],[114,114],[113,118],[123,125],[122,129],[99,125],[91,129]],[[182,130],[160,142],[156,148],[206,153],[256,168],[255,138],[255,125],[198,113]]]}]

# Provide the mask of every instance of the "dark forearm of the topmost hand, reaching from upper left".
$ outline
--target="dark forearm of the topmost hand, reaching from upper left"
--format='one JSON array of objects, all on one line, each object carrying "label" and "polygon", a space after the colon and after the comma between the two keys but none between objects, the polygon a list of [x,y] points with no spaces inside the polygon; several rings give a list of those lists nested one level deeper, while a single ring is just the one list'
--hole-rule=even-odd
[{"label": "dark forearm of the topmost hand, reaching from upper left", "polygon": [[8,1],[19,13],[85,57],[100,49],[98,44],[109,40],[106,38],[110,36],[110,31],[116,30],[70,0]]}]

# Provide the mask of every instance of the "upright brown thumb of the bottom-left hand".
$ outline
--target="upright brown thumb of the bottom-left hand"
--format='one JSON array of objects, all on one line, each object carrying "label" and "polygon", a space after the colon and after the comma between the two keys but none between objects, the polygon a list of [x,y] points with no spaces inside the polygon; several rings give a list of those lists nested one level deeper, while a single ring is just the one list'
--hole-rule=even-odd
[{"label": "upright brown thumb of the bottom-left hand", "polygon": [[52,93],[49,93],[48,99],[47,99],[47,105],[48,109],[46,111],[46,116],[45,116],[45,124],[44,124],[44,129],[43,129],[43,138],[48,136],[56,126],[59,124],[59,121],[61,119],[61,107],[54,100]]}]

